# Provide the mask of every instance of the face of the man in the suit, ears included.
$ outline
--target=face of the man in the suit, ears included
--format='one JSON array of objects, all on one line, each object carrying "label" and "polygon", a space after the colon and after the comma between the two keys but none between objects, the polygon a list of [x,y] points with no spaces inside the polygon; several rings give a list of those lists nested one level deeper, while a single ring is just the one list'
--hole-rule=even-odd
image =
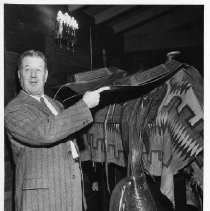
[{"label": "face of the man in the suit, ears included", "polygon": [[18,71],[20,84],[28,94],[41,96],[44,93],[44,84],[47,80],[48,71],[40,57],[26,56],[22,60],[22,67]]}]

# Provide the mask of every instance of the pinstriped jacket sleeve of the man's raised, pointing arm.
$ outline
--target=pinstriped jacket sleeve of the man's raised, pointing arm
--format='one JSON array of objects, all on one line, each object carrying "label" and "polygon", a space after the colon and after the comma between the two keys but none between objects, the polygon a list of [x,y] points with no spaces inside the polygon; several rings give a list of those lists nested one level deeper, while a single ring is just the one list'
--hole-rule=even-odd
[{"label": "pinstriped jacket sleeve of the man's raised, pointing arm", "polygon": [[47,116],[27,104],[5,109],[5,126],[19,142],[46,145],[65,139],[93,121],[83,100],[65,109],[57,116]]}]

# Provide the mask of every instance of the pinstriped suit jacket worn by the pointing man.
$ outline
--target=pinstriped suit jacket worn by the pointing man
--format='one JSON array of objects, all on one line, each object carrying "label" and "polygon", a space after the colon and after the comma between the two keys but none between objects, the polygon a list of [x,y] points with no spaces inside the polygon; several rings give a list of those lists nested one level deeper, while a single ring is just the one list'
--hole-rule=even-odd
[{"label": "pinstriped suit jacket worn by the pointing man", "polygon": [[39,190],[33,193],[39,194],[39,208],[33,210],[72,210],[75,172],[70,139],[93,119],[83,100],[65,110],[57,101],[48,100],[57,116],[23,91],[5,108],[5,126],[16,164],[16,210],[29,211],[23,204],[35,203],[25,194],[27,190],[30,194]]}]

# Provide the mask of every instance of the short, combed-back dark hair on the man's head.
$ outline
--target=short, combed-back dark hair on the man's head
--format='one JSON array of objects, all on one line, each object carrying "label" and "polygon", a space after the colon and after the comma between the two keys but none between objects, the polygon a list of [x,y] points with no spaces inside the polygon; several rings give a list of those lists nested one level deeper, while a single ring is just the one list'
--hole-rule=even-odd
[{"label": "short, combed-back dark hair on the man's head", "polygon": [[22,61],[27,56],[41,58],[44,61],[44,68],[47,69],[47,59],[46,59],[45,55],[41,51],[28,50],[28,51],[25,51],[24,53],[22,53],[20,55],[20,58],[19,58],[19,61],[18,61],[18,70],[21,69]]}]

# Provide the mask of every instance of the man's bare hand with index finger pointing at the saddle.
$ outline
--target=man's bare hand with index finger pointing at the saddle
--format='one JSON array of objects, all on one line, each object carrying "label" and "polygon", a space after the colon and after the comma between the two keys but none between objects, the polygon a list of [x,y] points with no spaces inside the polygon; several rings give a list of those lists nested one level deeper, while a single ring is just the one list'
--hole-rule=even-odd
[{"label": "man's bare hand with index finger pointing at the saddle", "polygon": [[105,87],[101,87],[95,91],[87,91],[82,99],[83,101],[87,104],[88,108],[93,108],[95,106],[97,106],[100,102],[100,93],[105,91],[105,90],[109,90],[110,87],[105,86]]}]

